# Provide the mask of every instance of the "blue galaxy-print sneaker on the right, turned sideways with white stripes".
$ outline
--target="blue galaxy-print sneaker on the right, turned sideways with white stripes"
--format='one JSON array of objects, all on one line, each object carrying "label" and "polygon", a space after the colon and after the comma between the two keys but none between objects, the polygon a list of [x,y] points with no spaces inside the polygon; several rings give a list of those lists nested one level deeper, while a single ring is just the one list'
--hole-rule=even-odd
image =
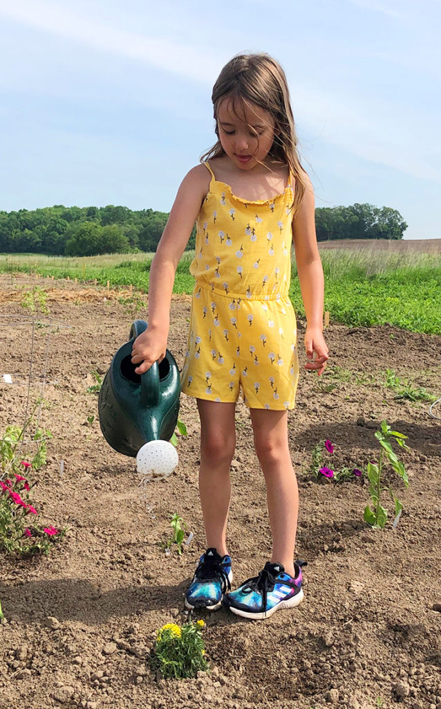
[{"label": "blue galaxy-print sneaker on the right, turned sideways with white stripes", "polygon": [[303,601],[302,566],[305,565],[306,562],[294,563],[293,578],[285,574],[282,564],[267,562],[258,576],[227,593],[222,603],[236,615],[253,620],[270,618],[279,608],[294,608]]}]

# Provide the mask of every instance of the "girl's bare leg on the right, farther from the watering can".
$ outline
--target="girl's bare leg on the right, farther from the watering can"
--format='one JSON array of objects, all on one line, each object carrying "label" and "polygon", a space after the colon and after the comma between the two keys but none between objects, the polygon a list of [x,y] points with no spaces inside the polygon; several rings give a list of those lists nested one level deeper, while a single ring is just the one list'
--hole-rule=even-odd
[{"label": "girl's bare leg on the right, farther from the watering can", "polygon": [[254,445],[265,476],[273,534],[272,562],[294,576],[294,545],[299,512],[297,478],[288,448],[287,411],[250,409]]}]

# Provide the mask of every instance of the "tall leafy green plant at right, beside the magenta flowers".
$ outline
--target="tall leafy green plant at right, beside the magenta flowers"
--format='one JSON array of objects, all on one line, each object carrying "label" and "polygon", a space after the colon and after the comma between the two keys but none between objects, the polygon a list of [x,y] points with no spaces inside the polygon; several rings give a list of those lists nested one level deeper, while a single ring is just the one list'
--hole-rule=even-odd
[{"label": "tall leafy green plant at right, beside the magenta flowers", "polygon": [[379,441],[380,452],[379,452],[379,462],[370,462],[367,465],[367,478],[369,479],[369,494],[370,494],[370,505],[368,504],[365,508],[365,513],[363,517],[366,522],[372,527],[384,529],[387,521],[387,510],[382,506],[380,498],[382,492],[389,491],[392,501],[395,506],[395,520],[394,526],[399,522],[401,515],[401,510],[403,505],[398,498],[394,495],[389,486],[384,486],[382,481],[382,474],[384,473],[384,459],[389,462],[391,467],[394,469],[397,475],[401,477],[403,483],[408,487],[409,481],[406,470],[404,469],[403,463],[398,459],[394,450],[391,447],[391,441],[394,440],[401,448],[408,448],[408,445],[404,442],[407,436],[398,431],[391,430],[391,427],[387,425],[386,421],[382,421],[382,429],[375,432],[375,437]]}]

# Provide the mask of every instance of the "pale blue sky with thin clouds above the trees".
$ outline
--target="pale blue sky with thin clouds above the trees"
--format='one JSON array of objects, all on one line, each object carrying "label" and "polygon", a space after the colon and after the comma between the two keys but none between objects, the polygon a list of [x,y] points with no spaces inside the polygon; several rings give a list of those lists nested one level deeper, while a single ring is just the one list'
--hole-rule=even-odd
[{"label": "pale blue sky with thin clouds above the trees", "polygon": [[441,238],[440,0],[0,0],[0,209],[169,211],[214,143],[212,84],[268,52],[316,206]]}]

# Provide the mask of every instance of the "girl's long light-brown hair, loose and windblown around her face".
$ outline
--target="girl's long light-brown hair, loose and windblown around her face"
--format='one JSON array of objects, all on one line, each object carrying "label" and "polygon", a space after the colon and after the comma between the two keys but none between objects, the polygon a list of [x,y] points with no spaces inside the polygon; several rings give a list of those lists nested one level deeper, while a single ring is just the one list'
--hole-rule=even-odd
[{"label": "girl's long light-brown hair, loose and windblown around her face", "polygon": [[201,162],[225,155],[219,140],[217,111],[220,101],[227,96],[233,101],[233,105],[239,102],[239,105],[245,108],[249,103],[257,104],[273,117],[275,138],[268,155],[289,167],[294,180],[292,208],[296,211],[304,195],[306,172],[300,163],[297,150],[298,138],[285,72],[280,64],[268,54],[236,55],[224,66],[212,92],[217,143],[202,155]]}]

